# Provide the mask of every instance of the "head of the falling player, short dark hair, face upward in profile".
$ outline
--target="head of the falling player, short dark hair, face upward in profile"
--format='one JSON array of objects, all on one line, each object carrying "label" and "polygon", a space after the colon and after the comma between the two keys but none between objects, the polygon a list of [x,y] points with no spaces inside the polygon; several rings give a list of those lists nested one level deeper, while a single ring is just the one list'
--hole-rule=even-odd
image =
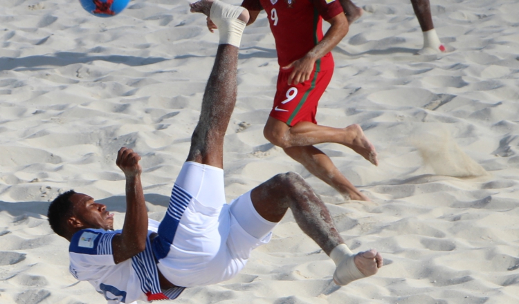
[{"label": "head of the falling player, short dark hair, face upward in profile", "polygon": [[48,206],[48,223],[54,232],[70,238],[76,231],[86,228],[113,229],[113,214],[91,196],[66,191]]}]

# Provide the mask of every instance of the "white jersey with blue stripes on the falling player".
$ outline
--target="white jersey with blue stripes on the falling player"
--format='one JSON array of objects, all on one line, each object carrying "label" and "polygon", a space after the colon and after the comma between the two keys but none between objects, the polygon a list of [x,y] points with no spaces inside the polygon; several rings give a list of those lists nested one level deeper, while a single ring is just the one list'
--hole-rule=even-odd
[{"label": "white jersey with blue stripes on the falling player", "polygon": [[157,231],[158,222],[148,220],[145,251],[116,264],[111,240],[120,230],[84,229],[74,234],[69,247],[70,272],[80,281],[89,281],[109,304],[137,300],[174,299],[184,287],[161,290],[156,260],[149,234]]}]

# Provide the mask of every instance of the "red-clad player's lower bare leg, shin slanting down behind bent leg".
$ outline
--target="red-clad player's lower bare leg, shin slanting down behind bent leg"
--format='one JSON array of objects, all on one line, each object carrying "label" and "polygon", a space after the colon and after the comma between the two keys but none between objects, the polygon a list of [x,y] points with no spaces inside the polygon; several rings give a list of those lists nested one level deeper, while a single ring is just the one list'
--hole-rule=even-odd
[{"label": "red-clad player's lower bare leg, shin slanting down behind bent leg", "polygon": [[284,149],[285,153],[300,162],[310,173],[334,187],[347,200],[370,200],[345,178],[335,167],[328,155],[315,146],[292,146]]}]

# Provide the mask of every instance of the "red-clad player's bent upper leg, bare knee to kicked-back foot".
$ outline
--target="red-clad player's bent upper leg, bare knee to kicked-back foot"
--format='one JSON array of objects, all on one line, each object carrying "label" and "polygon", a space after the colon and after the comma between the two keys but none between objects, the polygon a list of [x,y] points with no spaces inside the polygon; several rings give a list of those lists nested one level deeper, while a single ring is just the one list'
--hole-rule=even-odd
[{"label": "red-clad player's bent upper leg, bare knee to kicked-back foot", "polygon": [[280,120],[268,117],[263,134],[268,141],[283,149],[291,146],[313,146],[323,142],[343,144],[375,166],[379,164],[375,147],[367,140],[358,124],[344,129],[319,126],[311,122],[298,122],[295,126],[288,126]]}]

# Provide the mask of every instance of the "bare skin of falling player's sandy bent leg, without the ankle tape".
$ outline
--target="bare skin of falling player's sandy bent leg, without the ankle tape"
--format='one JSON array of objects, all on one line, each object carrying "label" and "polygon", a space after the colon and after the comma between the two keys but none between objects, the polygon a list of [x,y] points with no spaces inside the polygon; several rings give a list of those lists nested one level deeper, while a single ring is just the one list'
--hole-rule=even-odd
[{"label": "bare skin of falling player's sandy bent leg, without the ankle tape", "polygon": [[[336,273],[342,270],[343,263],[338,263],[338,261],[349,257],[338,254],[337,251],[340,250],[337,248],[345,247],[347,249],[344,240],[337,231],[325,204],[313,193],[309,184],[304,182],[300,175],[297,173],[275,175],[253,189],[251,200],[260,216],[270,222],[279,222],[286,210],[290,208],[295,222],[298,223],[301,230],[314,240],[328,256],[334,252],[332,258],[338,265]],[[373,249],[354,255],[353,261],[354,266],[363,276],[376,274],[383,265],[382,256]]]}]

